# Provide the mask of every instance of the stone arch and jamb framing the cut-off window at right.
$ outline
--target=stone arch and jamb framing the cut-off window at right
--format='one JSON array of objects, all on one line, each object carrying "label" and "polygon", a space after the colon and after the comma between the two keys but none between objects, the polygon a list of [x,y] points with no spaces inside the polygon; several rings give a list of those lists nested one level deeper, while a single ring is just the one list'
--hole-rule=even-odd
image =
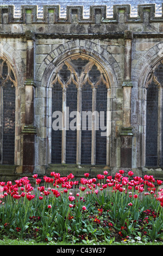
[{"label": "stone arch and jamb framing the cut-off window at right", "polygon": [[[147,107],[147,87],[149,86],[150,80],[153,80],[153,73],[163,58],[163,44],[155,42],[155,45],[150,48],[142,57],[139,59],[137,64],[132,70],[132,80],[134,81],[134,99],[133,102],[133,113],[131,118],[131,125],[136,131],[137,141],[140,142],[139,147],[134,149],[133,155],[133,167],[146,166],[146,107]],[[136,99],[136,100],[135,100]],[[136,113],[135,102],[139,102],[139,113]],[[136,117],[136,118],[135,118]],[[138,124],[138,125],[137,125]],[[133,137],[134,139],[134,137]],[[136,154],[135,154],[136,150]]]}]

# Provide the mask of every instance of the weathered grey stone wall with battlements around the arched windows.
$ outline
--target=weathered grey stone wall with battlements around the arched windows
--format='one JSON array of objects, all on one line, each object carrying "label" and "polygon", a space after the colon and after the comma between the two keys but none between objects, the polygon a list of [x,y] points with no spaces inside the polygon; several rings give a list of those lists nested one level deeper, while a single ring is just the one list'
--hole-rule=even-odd
[{"label": "weathered grey stone wall with battlements around the arched windows", "polygon": [[[40,175],[50,170],[62,173],[102,167],[51,165],[52,72],[67,56],[84,54],[104,67],[110,82],[110,163],[108,170],[133,169],[136,175],[150,173],[162,177],[162,168],[146,168],[146,80],[163,58],[163,17],[154,4],[114,5],[112,17],[106,5],[67,6],[60,17],[59,5],[44,5],[42,17],[35,5],[22,5],[14,16],[13,5],[0,6],[0,53],[13,66],[16,87],[15,166],[0,170],[1,175]],[[12,170],[11,170],[12,169]]]}]

